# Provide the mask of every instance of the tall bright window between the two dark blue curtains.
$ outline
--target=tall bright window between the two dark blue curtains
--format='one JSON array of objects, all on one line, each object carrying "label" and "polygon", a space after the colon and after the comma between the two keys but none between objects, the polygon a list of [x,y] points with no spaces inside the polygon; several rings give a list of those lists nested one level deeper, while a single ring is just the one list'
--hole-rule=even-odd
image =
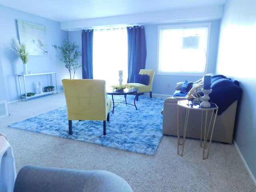
[{"label": "tall bright window between the two dark blue curtains", "polygon": [[93,34],[93,78],[106,80],[106,88],[119,84],[119,70],[123,84],[128,78],[128,42],[126,28],[96,30]]}]

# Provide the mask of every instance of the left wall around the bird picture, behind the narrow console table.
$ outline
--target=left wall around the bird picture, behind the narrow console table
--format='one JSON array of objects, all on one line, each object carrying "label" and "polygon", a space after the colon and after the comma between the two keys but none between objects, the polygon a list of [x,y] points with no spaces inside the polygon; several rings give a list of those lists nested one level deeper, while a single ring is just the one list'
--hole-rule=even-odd
[{"label": "left wall around the bird picture, behind the narrow console table", "polygon": [[[0,13],[0,59],[2,62],[2,66],[0,67],[3,70],[7,100],[14,101],[20,99],[17,74],[23,74],[22,60],[10,50],[12,39],[18,39],[17,19],[46,26],[48,55],[31,56],[27,63],[28,70],[32,70],[33,73],[57,72],[58,89],[62,89],[61,79],[68,77],[68,70],[66,70],[64,64],[56,58],[55,55],[57,52],[52,47],[54,44],[61,45],[63,38],[66,36],[66,32],[60,30],[60,23],[2,5],[0,5]],[[26,81],[28,85],[27,92],[36,92],[36,84],[39,81],[43,82],[43,86],[50,85],[48,79],[49,78],[45,76],[33,76],[28,78],[28,81]]]}]

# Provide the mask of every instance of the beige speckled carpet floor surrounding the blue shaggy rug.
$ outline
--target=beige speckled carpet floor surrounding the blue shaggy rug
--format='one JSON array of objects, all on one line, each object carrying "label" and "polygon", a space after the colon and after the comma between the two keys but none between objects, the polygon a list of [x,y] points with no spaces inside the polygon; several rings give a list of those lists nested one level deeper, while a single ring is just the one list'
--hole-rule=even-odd
[{"label": "beige speckled carpet floor surrounding the blue shaggy rug", "polygon": [[10,116],[0,118],[0,132],[12,145],[17,172],[27,164],[108,170],[124,178],[134,192],[256,191],[233,144],[212,142],[209,158],[202,160],[199,140],[186,139],[180,157],[177,137],[163,136],[156,155],[148,156],[8,127],[65,104],[59,92],[8,105]]}]

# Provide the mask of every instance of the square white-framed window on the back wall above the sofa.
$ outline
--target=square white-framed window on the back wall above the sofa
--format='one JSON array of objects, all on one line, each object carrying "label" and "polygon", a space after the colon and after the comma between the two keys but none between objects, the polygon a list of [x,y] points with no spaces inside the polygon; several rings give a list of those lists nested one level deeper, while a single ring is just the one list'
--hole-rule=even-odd
[{"label": "square white-framed window on the back wall above the sofa", "polygon": [[158,27],[158,74],[202,75],[210,24]]}]

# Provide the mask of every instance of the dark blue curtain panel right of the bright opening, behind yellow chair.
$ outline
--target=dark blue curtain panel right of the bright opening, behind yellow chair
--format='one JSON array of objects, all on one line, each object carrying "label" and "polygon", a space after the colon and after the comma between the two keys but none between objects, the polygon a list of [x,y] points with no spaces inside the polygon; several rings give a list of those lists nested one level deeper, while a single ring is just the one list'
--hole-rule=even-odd
[{"label": "dark blue curtain panel right of the bright opening, behind yellow chair", "polygon": [[146,38],[143,26],[127,27],[128,35],[128,83],[146,66]]}]

